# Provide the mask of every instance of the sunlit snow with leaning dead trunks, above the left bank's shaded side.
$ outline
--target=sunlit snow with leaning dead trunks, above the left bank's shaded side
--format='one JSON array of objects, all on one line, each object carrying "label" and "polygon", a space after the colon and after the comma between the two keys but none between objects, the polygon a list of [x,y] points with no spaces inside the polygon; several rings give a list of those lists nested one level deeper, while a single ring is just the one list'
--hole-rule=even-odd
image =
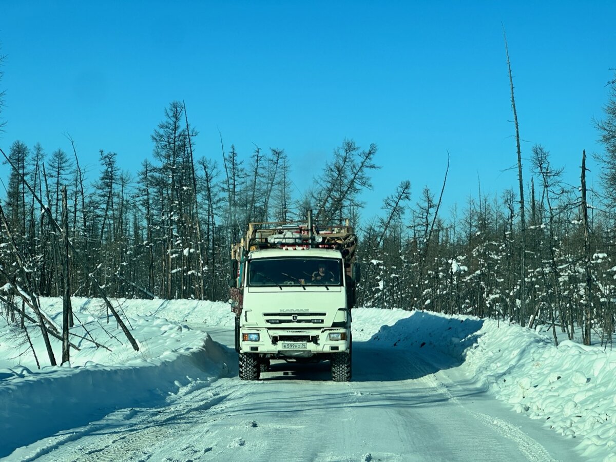
[{"label": "sunlit snow with leaning dead trunks, above the left bank's shaded side", "polygon": [[[136,352],[116,325],[113,316],[107,315],[107,308],[102,300],[81,297],[74,297],[71,300],[76,325],[71,329],[71,333],[83,337],[70,338],[70,341],[80,349],[80,351],[71,349],[70,362],[73,367],[81,367],[86,363],[137,366],[144,365],[144,361],[150,359],[169,359],[173,354],[198,349],[205,343],[207,334],[191,329],[188,324],[233,325],[229,305],[225,303],[160,299],[113,300],[115,309],[120,312],[139,345],[139,351]],[[56,326],[61,325],[62,299],[41,299],[41,310]],[[83,327],[79,326],[82,323]],[[58,329],[60,330],[60,327]],[[49,364],[38,328],[31,326],[28,333],[41,365]],[[7,326],[0,318],[0,338],[2,339],[0,370],[17,366],[30,370],[37,368],[21,329]],[[60,363],[61,344],[55,339],[51,340],[55,359]],[[104,347],[99,347],[90,340]]]}]

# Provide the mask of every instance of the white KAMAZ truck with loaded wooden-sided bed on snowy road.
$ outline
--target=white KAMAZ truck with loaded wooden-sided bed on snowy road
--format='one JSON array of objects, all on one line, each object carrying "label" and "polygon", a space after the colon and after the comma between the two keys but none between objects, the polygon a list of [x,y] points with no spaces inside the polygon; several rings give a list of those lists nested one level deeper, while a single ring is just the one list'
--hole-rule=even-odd
[{"label": "white KAMAZ truck with loaded wooden-sided bed on snowy road", "polygon": [[351,309],[357,236],[349,221],[251,223],[232,246],[230,303],[239,376],[257,380],[272,359],[330,360],[334,381],[351,380]]}]

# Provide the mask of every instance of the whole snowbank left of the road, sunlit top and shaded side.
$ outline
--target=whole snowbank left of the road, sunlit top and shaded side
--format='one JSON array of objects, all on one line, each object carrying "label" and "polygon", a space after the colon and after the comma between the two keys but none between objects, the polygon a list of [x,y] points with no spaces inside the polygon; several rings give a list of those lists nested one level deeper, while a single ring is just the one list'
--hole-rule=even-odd
[{"label": "whole snowbank left of the road, sunlit top and shaded side", "polygon": [[[119,305],[116,305],[120,302]],[[212,319],[225,323],[229,305],[199,301],[114,301],[120,306],[139,344],[134,351],[113,317],[98,299],[73,298],[76,319],[84,328],[71,337],[70,365],[51,367],[38,328],[28,329],[41,370],[19,330],[0,318],[0,458],[13,448],[87,424],[111,410],[155,403],[194,382],[209,383],[227,374],[222,347],[208,334],[184,322]],[[54,323],[62,321],[62,300],[42,299],[42,309]],[[76,321],[77,323],[77,321]],[[87,331],[86,331],[87,330]],[[61,344],[52,339],[60,363]],[[200,385],[202,386],[202,385]],[[84,420],[86,419],[86,420]]]}]

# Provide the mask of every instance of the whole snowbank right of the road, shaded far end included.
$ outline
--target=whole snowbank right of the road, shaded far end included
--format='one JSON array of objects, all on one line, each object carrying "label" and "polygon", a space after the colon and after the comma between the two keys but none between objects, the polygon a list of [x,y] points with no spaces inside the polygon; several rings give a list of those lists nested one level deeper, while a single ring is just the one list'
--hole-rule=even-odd
[{"label": "whole snowbank right of the road, shaded far end included", "polygon": [[432,362],[446,355],[517,412],[575,437],[582,455],[616,461],[616,352],[572,341],[556,347],[539,331],[430,312],[384,325],[371,340]]}]

